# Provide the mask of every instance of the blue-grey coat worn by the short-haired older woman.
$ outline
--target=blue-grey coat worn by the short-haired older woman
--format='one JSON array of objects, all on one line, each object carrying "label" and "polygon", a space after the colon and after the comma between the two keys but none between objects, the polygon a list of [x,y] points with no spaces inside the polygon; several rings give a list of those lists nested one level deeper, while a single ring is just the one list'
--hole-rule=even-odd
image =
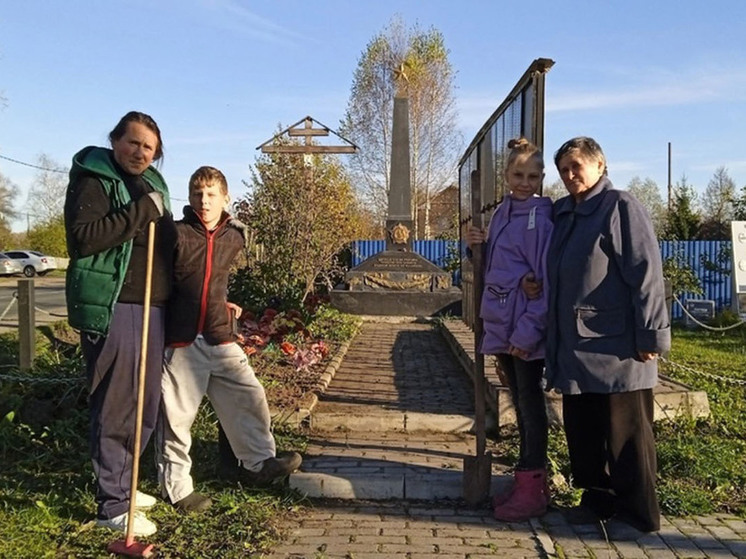
[{"label": "blue-grey coat worn by the short-haired older woman", "polygon": [[576,204],[554,208],[547,256],[548,388],[563,394],[652,388],[657,360],[638,352],[668,351],[660,249],[650,218],[627,192],[602,177]]}]

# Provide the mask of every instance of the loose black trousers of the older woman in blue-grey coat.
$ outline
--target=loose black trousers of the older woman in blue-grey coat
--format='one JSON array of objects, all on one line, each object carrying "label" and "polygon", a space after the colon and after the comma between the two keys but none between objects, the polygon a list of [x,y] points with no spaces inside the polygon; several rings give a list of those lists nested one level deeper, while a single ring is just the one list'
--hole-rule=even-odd
[{"label": "loose black trousers of the older woman in blue-grey coat", "polygon": [[575,484],[600,516],[660,528],[655,494],[653,390],[565,395],[562,413]]}]

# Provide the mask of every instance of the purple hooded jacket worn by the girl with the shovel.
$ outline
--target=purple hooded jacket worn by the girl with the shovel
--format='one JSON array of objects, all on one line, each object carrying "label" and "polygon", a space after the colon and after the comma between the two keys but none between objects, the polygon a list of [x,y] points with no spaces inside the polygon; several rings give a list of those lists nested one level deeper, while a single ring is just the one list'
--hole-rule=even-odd
[{"label": "purple hooded jacket worn by the girl with the shovel", "polygon": [[544,357],[547,325],[547,282],[538,299],[529,300],[521,278],[533,272],[546,277],[552,234],[552,201],[534,196],[515,200],[505,196],[490,220],[485,249],[484,294],[480,316],[484,336],[480,353],[508,353],[510,346]]}]

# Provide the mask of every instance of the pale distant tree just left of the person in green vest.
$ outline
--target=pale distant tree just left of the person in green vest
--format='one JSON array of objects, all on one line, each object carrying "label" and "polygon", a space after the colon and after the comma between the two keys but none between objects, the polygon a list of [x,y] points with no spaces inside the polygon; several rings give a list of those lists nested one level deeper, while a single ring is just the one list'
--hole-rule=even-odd
[{"label": "pale distant tree just left of the person in green vest", "polygon": [[34,223],[48,223],[62,215],[68,169],[45,153],[36,158],[36,166],[38,170],[26,198],[26,207]]}]

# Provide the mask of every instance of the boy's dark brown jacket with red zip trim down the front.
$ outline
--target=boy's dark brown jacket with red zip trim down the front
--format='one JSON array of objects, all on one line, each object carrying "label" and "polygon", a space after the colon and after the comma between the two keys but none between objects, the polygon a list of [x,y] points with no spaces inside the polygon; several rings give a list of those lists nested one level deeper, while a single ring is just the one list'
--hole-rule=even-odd
[{"label": "boy's dark brown jacket with red zip trim down the front", "polygon": [[228,311],[228,276],[244,246],[246,226],[224,213],[207,231],[191,207],[176,222],[174,283],[166,318],[166,344],[185,346],[202,334],[208,344],[235,341]]}]

